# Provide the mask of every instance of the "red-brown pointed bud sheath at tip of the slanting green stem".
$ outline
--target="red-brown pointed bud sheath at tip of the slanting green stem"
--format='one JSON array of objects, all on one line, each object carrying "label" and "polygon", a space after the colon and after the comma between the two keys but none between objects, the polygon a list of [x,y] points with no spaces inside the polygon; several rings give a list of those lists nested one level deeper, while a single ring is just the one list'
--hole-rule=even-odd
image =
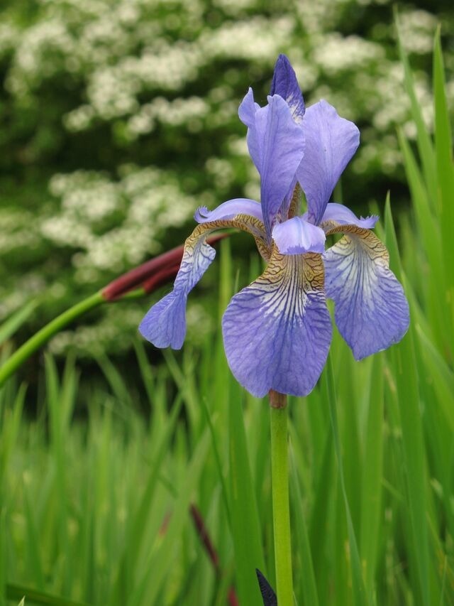
[{"label": "red-brown pointed bud sheath at tip of the slanting green stem", "polygon": [[[229,234],[218,234],[207,238],[209,244],[215,244],[218,240],[227,237]],[[133,288],[143,284],[145,291],[150,292],[153,288],[161,286],[165,281],[170,280],[177,274],[179,265],[182,262],[182,256],[184,251],[184,244],[179,247],[167,251],[163,254],[155,256],[154,259],[146,261],[142,265],[127,271],[126,274],[111,281],[101,291],[102,296],[106,301],[115,301],[116,299],[123,296],[128,291],[132,291]],[[174,271],[176,268],[176,271]],[[172,271],[171,271],[172,269]],[[166,278],[164,278],[166,274]],[[157,280],[157,276],[160,275],[160,280]],[[150,284],[151,286],[146,286]]]}]

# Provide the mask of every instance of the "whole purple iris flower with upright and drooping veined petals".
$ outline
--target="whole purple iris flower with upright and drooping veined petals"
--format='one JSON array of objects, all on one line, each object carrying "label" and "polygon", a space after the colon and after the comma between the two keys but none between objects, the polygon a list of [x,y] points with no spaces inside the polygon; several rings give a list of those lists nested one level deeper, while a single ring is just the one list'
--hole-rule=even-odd
[{"label": "whole purple iris flower with upright and drooping veined petals", "polygon": [[[206,237],[236,227],[255,238],[267,267],[233,296],[222,321],[228,364],[255,396],[270,389],[305,396],[314,388],[331,343],[326,297],[338,330],[362,359],[404,336],[409,307],[370,231],[378,217],[355,216],[329,202],[358,148],[358,128],[326,101],[306,109],[292,65],[279,55],[265,107],[250,89],[240,104],[250,156],[260,173],[260,202],[237,198],[199,208],[173,291],[149,310],[140,332],[157,347],[182,347],[186,301],[214,259]],[[307,211],[301,215],[301,190]],[[326,236],[344,234],[325,251]]]}]

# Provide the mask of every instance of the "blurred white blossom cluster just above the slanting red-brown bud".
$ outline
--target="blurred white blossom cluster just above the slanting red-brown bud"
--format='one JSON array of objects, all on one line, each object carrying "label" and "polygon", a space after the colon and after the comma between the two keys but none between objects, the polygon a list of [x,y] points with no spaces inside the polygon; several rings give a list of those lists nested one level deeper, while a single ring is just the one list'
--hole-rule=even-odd
[{"label": "blurred white blossom cluster just above the slanting red-brown bud", "polygon": [[160,251],[162,234],[194,213],[197,200],[184,195],[165,172],[123,171],[116,183],[84,171],[50,181],[51,193],[61,198],[60,212],[40,228],[57,246],[77,249],[72,256],[75,281],[96,283],[105,271],[122,274]]}]

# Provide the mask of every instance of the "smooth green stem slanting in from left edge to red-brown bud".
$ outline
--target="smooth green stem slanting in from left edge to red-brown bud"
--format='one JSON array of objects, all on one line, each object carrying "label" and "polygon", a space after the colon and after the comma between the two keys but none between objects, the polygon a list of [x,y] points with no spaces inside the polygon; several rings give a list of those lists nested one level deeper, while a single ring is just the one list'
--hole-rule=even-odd
[{"label": "smooth green stem slanting in from left edge to red-brown bud", "polygon": [[16,372],[16,370],[23,364],[23,362],[26,361],[26,359],[35,353],[36,350],[39,350],[39,348],[42,347],[46,342],[48,342],[48,340],[53,337],[56,332],[62,330],[62,328],[65,328],[65,326],[72,322],[72,320],[79,318],[79,315],[82,315],[90,309],[93,309],[105,302],[106,300],[102,296],[101,291],[94,293],[94,295],[91,295],[83,301],[76,303],[76,305],[73,305],[70,307],[70,309],[67,309],[58,315],[57,318],[51,320],[50,323],[46,324],[43,328],[41,328],[41,330],[35,332],[33,337],[21,345],[21,347],[19,347],[18,350],[16,350],[0,368],[0,387],[4,384],[6,379],[11,377],[11,374]]}]

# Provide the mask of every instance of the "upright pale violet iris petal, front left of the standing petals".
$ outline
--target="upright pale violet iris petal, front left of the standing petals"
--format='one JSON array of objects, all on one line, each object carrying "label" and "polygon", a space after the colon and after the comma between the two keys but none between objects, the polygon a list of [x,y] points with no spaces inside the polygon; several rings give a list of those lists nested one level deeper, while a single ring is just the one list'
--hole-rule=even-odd
[{"label": "upright pale violet iris petal, front left of the standing petals", "polygon": [[304,134],[287,103],[275,95],[268,104],[254,104],[252,91],[243,99],[240,118],[248,126],[250,157],[260,173],[260,201],[269,242],[275,219],[288,199],[289,190],[304,154]]}]

